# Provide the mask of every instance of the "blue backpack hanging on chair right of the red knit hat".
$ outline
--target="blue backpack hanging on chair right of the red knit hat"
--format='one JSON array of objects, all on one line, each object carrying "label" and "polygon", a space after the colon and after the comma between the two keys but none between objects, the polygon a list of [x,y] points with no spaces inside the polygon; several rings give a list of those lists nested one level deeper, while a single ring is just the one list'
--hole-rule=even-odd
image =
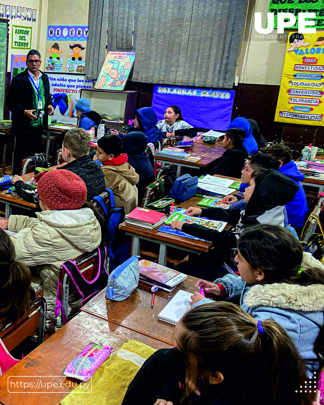
[{"label": "blue backpack hanging on chair right of the red knit hat", "polygon": [[108,243],[107,251],[110,259],[109,270],[112,271],[117,266],[119,266],[119,264],[123,263],[130,257],[131,241],[129,240],[129,238],[127,238],[127,240],[125,241],[123,237],[118,238],[116,237],[116,239],[118,240],[114,240],[116,231],[117,232],[119,231],[118,230],[119,224],[124,221],[125,213],[123,207],[116,207],[113,192],[109,188],[107,188],[106,191],[109,193],[109,203],[110,203],[109,209],[104,204],[104,200],[102,199],[102,197],[94,196],[93,200],[95,200],[98,204],[100,204],[102,211],[104,212],[105,215],[107,215],[108,218],[108,231],[110,242]]}]

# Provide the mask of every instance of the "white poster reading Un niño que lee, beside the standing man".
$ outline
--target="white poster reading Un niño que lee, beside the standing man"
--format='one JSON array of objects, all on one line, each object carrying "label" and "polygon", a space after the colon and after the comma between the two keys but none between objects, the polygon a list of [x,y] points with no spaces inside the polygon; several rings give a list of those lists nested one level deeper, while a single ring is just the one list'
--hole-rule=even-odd
[{"label": "white poster reading Un ni\u00f1o que lee, beside the standing man", "polygon": [[77,124],[75,103],[80,98],[81,89],[91,89],[92,80],[85,75],[68,73],[46,73],[49,78],[49,92],[54,105],[53,118],[66,124]]}]

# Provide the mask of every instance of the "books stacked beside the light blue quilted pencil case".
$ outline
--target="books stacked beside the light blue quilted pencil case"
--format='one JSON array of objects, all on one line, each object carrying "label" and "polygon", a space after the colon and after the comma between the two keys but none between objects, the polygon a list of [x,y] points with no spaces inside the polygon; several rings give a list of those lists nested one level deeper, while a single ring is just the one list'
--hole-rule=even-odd
[{"label": "books stacked beside the light blue quilted pencil case", "polygon": [[158,286],[164,291],[171,292],[186,278],[188,278],[187,275],[161,264],[139,260],[139,279],[149,286]]}]

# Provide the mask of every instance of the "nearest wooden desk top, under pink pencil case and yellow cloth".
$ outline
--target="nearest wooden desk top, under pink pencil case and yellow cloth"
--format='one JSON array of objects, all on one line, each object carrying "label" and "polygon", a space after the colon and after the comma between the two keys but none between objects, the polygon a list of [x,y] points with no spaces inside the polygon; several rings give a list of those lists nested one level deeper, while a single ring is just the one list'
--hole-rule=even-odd
[{"label": "nearest wooden desk top, under pink pencil case and yellow cloth", "polygon": [[[8,377],[17,376],[13,381],[37,382],[38,376],[63,376],[64,368],[90,342],[112,346],[116,352],[128,339],[138,340],[154,349],[171,348],[166,343],[81,312],[0,377],[0,403],[4,405],[21,405],[23,403],[28,403],[28,405],[57,405],[72,391],[72,388],[56,389],[57,391],[65,391],[62,393],[50,393],[54,389],[49,389],[49,393],[11,393],[7,389]],[[26,378],[24,380],[24,376],[36,377],[35,379]],[[52,377],[52,379],[45,379],[45,381],[59,383],[70,381],[74,384],[78,382],[78,385],[80,383],[77,379],[64,376],[56,379]],[[19,390],[22,391],[21,388]],[[26,389],[26,392],[31,390],[30,388]],[[44,388],[39,391],[44,391]]]}]

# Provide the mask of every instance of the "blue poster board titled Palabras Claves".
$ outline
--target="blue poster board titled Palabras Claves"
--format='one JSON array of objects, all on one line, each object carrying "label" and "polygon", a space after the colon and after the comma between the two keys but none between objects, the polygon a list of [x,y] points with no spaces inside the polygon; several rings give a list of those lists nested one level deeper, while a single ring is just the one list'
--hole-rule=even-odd
[{"label": "blue poster board titled Palabras Claves", "polygon": [[234,90],[155,85],[152,107],[158,121],[171,105],[181,109],[183,119],[194,128],[226,131],[231,122]]}]

